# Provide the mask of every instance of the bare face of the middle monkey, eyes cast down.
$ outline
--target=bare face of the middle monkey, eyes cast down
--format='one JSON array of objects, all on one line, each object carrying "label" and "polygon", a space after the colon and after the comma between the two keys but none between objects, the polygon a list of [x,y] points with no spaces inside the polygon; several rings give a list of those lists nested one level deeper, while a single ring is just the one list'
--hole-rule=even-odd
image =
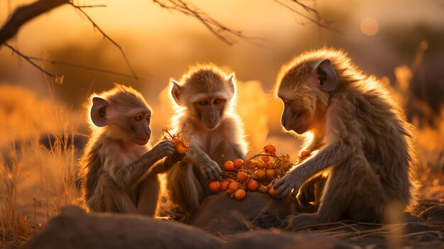
[{"label": "bare face of the middle monkey, eyes cast down", "polygon": [[201,124],[212,130],[221,123],[221,117],[226,106],[226,99],[221,97],[213,97],[206,99],[199,99],[193,103],[196,117]]}]

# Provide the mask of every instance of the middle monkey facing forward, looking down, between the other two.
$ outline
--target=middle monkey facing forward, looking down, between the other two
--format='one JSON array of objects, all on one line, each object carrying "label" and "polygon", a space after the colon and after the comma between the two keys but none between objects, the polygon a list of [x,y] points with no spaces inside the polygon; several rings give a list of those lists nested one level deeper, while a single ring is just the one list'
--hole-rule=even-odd
[{"label": "middle monkey facing forward, looking down, between the other two", "polygon": [[244,158],[246,143],[240,118],[233,112],[234,74],[216,65],[195,65],[172,82],[178,105],[172,126],[189,125],[191,147],[179,167],[168,172],[170,196],[180,208],[193,213],[211,194],[209,179],[218,179],[226,160]]}]

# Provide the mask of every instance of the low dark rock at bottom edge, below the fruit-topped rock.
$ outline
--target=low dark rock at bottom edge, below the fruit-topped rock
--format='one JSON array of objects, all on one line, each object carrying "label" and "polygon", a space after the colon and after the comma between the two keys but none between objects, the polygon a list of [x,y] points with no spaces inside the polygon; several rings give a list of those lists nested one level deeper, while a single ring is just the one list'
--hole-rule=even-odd
[{"label": "low dark rock at bottom edge, below the fruit-topped rock", "polygon": [[279,230],[251,231],[242,233],[229,241],[229,249],[270,249],[270,248],[352,248],[343,241],[318,236],[309,232],[291,233]]}]

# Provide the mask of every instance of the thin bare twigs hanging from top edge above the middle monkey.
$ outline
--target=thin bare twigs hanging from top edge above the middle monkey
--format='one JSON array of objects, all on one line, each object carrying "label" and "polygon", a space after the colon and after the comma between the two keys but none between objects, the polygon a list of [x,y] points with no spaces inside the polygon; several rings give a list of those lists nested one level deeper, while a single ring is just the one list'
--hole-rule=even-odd
[{"label": "thin bare twigs hanging from top edge above the middle monkey", "polygon": [[254,38],[254,37],[248,37],[243,34],[242,31],[235,31],[231,28],[228,28],[227,26],[224,26],[222,23],[216,21],[215,19],[211,18],[207,13],[201,12],[199,9],[190,6],[187,4],[187,2],[182,0],[152,0],[156,4],[159,4],[164,9],[168,9],[171,11],[178,11],[180,13],[183,13],[186,16],[192,16],[199,20],[204,26],[211,31],[214,35],[216,35],[219,39],[223,40],[224,43],[227,43],[228,45],[233,45],[232,40],[228,40],[225,33],[228,33],[230,35],[234,35],[235,37],[238,37],[242,40],[245,40],[249,43],[261,46],[259,43],[255,42],[255,40],[264,40],[262,38]]}]

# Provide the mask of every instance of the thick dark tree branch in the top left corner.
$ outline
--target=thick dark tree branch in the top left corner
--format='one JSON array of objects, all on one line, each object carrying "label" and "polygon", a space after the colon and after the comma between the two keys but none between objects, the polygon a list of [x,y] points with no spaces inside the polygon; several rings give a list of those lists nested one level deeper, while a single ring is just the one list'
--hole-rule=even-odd
[{"label": "thick dark tree branch in the top left corner", "polygon": [[24,23],[30,21],[30,19],[69,2],[70,0],[40,0],[35,1],[33,4],[18,7],[12,14],[11,18],[9,18],[5,25],[0,28],[0,44],[13,38],[18,29]]}]

